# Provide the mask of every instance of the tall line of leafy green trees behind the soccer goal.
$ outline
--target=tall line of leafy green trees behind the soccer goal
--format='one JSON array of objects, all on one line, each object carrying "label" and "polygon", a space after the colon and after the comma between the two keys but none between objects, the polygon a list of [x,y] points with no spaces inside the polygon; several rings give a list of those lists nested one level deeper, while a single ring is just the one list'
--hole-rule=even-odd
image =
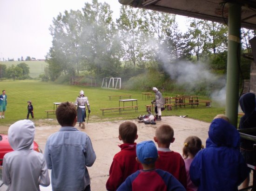
[{"label": "tall line of leafy green trees behind the soccer goal", "polygon": [[[179,61],[204,63],[209,70],[225,73],[228,27],[201,19],[188,19],[188,23],[182,33],[174,14],[131,6],[121,6],[114,21],[110,6],[93,0],[82,11],[65,11],[53,19],[45,75],[52,81],[81,72],[128,80],[151,71],[167,79],[163,65],[173,67]],[[242,29],[241,33],[242,51],[249,53],[255,31]],[[242,57],[241,66],[248,77],[249,61]]]}]

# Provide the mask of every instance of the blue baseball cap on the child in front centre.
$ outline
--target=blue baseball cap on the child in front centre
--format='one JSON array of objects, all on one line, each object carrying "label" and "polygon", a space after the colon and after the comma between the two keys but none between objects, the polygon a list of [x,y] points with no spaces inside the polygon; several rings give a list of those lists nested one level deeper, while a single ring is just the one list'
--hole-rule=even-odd
[{"label": "blue baseball cap on the child in front centre", "polygon": [[[142,141],[136,145],[136,155],[142,164],[150,164],[158,158],[155,143],[152,140]],[[150,161],[146,159],[152,158]]]}]

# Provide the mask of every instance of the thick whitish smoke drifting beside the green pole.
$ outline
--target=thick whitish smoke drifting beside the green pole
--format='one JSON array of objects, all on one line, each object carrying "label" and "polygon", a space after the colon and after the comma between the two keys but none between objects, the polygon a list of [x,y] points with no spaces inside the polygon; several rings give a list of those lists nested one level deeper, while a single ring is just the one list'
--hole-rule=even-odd
[{"label": "thick whitish smoke drifting beside the green pole", "polygon": [[225,105],[226,100],[226,76],[217,76],[212,73],[203,63],[189,61],[171,61],[167,54],[161,54],[160,60],[164,70],[177,84],[185,86],[191,92],[200,88],[209,92],[212,101],[218,105]]}]

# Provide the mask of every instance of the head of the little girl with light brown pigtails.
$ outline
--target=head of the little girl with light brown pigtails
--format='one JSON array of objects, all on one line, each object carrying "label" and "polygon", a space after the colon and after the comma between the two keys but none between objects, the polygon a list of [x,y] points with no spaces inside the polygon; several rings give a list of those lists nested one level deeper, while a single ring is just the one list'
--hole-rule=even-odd
[{"label": "head of the little girl with light brown pigtails", "polygon": [[189,136],[184,141],[183,153],[182,156],[184,159],[188,159],[190,156],[194,158],[196,153],[198,153],[203,148],[202,140],[196,136]]}]

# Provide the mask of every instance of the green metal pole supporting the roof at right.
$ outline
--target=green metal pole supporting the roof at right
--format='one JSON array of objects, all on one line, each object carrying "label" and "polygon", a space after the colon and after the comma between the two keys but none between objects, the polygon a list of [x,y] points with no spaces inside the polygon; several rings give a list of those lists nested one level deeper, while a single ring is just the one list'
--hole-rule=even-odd
[{"label": "green metal pole supporting the roof at right", "polygon": [[229,3],[229,41],[227,65],[226,115],[237,127],[239,98],[239,63],[241,54],[241,6]]}]

